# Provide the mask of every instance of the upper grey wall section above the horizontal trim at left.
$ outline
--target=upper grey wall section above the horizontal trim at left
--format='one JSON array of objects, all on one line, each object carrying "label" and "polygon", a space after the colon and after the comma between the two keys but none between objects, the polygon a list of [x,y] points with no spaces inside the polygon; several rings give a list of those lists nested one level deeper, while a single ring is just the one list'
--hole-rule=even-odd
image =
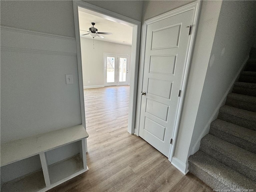
[{"label": "upper grey wall section above the horizontal trim at left", "polygon": [[1,25],[74,37],[72,1],[1,1]]}]

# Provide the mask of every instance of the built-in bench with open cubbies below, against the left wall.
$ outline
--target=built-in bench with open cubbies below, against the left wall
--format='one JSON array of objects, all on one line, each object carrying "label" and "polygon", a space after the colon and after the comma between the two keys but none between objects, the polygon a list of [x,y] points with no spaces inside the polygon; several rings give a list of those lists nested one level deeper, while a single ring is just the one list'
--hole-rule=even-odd
[{"label": "built-in bench with open cubbies below, against the left wall", "polygon": [[1,191],[44,192],[86,172],[87,137],[76,125],[1,144]]}]

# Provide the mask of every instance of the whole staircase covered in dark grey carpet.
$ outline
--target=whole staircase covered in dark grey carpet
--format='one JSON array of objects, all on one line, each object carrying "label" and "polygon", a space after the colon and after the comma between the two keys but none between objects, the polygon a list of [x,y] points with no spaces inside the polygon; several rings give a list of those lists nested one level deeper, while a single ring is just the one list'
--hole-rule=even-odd
[{"label": "whole staircase covered in dark grey carpet", "polygon": [[256,191],[256,48],[241,72],[189,171],[218,191]]}]

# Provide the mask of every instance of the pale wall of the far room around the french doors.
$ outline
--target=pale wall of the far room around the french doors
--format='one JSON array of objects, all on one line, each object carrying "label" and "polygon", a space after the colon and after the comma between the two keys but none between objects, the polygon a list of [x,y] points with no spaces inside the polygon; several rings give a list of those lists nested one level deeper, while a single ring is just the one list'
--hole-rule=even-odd
[{"label": "pale wall of the far room around the french doors", "polygon": [[[122,54],[131,56],[132,46],[94,40],[93,48],[92,39],[80,38],[80,40],[84,87],[104,85],[103,53]],[[88,81],[90,81],[90,83],[88,83]]]}]

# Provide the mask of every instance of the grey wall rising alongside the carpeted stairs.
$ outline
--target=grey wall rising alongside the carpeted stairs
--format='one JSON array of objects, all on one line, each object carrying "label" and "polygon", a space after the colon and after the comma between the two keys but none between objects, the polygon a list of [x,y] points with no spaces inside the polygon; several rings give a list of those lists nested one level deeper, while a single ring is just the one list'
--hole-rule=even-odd
[{"label": "grey wall rising alongside the carpeted stairs", "polygon": [[217,106],[250,52],[255,39],[255,8],[255,1],[222,3],[190,149],[198,141],[198,150],[199,140],[209,132],[208,120],[218,111]]}]

